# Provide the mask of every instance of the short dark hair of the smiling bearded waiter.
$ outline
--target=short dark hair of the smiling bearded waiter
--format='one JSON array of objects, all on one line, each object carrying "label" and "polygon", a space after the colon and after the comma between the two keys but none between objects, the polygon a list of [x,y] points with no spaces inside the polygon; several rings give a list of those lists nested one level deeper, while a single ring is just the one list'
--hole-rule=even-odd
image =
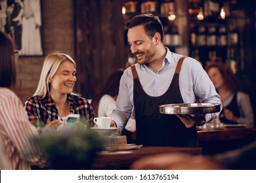
[{"label": "short dark hair of the smiling bearded waiter", "polygon": [[144,25],[146,34],[152,38],[156,33],[160,33],[163,42],[163,25],[158,16],[153,14],[139,14],[127,22],[127,29],[131,29],[137,25]]}]

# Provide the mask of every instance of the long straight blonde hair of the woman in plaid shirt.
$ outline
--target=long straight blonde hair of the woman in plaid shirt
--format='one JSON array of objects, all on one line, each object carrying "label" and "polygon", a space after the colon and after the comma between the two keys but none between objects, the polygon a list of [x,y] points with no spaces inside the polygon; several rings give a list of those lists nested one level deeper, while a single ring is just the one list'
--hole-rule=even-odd
[{"label": "long straight blonde hair of the woman in plaid shirt", "polygon": [[43,69],[41,71],[41,76],[37,86],[37,90],[35,90],[35,93],[33,94],[33,96],[39,96],[43,99],[47,95],[47,92],[50,93],[49,79],[51,79],[54,76],[58,67],[60,66],[60,63],[66,60],[73,63],[76,69],[76,64],[74,59],[72,59],[67,54],[62,54],[60,52],[53,52],[52,54],[49,54],[45,58],[45,61],[43,63]]}]

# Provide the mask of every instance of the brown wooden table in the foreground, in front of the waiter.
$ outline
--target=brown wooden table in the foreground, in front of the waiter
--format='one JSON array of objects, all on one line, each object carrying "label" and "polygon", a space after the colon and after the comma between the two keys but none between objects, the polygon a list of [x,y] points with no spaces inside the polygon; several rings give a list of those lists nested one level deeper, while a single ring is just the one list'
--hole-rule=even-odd
[{"label": "brown wooden table in the foreground, in front of the waiter", "polygon": [[184,148],[167,146],[143,146],[137,150],[122,150],[116,152],[99,152],[93,169],[129,169],[133,161],[154,154],[165,152],[186,152],[194,155],[202,154],[202,148]]}]

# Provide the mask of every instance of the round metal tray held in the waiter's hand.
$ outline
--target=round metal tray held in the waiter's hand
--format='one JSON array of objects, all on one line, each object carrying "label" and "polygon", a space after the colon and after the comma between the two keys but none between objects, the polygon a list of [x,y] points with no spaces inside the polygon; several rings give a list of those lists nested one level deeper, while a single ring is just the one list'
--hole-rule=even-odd
[{"label": "round metal tray held in the waiter's hand", "polygon": [[221,111],[219,103],[180,103],[160,105],[161,114],[207,114]]}]

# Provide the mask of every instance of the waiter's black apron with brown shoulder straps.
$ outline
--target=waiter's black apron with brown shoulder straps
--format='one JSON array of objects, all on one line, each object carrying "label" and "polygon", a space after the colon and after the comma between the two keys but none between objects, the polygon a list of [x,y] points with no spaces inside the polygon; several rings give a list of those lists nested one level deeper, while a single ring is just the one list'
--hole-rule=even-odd
[{"label": "waiter's black apron with brown shoulder straps", "polygon": [[198,147],[196,127],[186,128],[176,115],[161,114],[158,107],[165,104],[184,103],[179,89],[179,73],[184,58],[179,60],[168,90],[159,97],[152,97],[144,92],[135,65],[131,66],[137,144]]}]

